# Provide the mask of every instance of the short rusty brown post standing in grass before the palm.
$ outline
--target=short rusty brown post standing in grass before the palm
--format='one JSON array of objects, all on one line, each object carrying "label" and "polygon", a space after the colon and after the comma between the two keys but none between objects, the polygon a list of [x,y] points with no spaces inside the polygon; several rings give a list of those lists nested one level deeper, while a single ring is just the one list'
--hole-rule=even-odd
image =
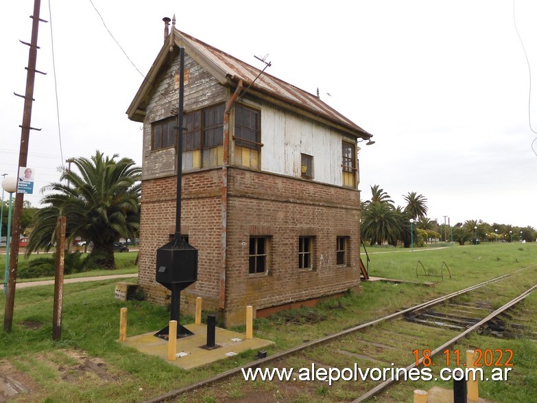
[{"label": "short rusty brown post standing in grass before the palm", "polygon": [[56,224],[56,273],[54,276],[54,308],[52,340],[62,338],[63,273],[65,263],[65,217],[58,217]]}]

